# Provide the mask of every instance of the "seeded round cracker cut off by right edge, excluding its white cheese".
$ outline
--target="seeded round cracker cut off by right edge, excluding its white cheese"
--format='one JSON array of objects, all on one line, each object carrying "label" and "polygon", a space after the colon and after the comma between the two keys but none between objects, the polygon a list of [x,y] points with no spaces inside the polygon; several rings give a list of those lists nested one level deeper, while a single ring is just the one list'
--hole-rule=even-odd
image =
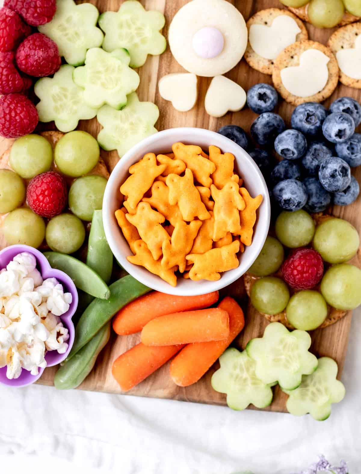
[{"label": "seeded round cracker cut off by right edge, excluding its white cheese", "polygon": [[[331,49],[333,54],[341,49],[350,49],[354,47],[355,37],[361,35],[361,22],[352,23],[342,28],[338,28],[329,38],[327,46]],[[361,89],[361,79],[353,79],[347,76],[340,69],[340,82],[345,86]]]}]

